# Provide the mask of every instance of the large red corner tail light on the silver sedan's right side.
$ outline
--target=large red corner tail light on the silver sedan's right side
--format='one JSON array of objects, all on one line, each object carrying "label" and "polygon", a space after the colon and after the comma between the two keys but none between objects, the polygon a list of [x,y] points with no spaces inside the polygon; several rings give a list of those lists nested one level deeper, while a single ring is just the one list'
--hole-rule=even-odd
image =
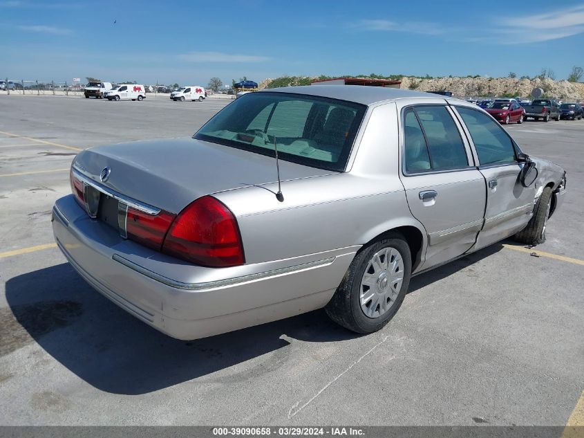
[{"label": "large red corner tail light on the silver sedan's right side", "polygon": [[217,268],[245,263],[233,213],[210,196],[197,199],[179,213],[164,239],[162,252]]}]

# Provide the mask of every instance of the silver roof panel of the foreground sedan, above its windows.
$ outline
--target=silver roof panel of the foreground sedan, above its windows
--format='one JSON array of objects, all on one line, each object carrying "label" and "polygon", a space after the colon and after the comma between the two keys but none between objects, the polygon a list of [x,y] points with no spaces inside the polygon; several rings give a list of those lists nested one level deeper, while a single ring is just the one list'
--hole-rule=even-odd
[{"label": "silver roof panel of the foreground sedan, above its windows", "polygon": [[[264,89],[276,93],[294,93],[305,95],[316,95],[324,98],[348,100],[365,105],[386,100],[406,99],[406,98],[436,98],[444,101],[446,96],[422,91],[410,91],[395,88],[384,88],[382,86],[362,86],[362,85],[304,85],[304,86],[284,86],[281,88]],[[449,98],[450,99],[450,98]],[[464,100],[462,102],[465,102]]]}]

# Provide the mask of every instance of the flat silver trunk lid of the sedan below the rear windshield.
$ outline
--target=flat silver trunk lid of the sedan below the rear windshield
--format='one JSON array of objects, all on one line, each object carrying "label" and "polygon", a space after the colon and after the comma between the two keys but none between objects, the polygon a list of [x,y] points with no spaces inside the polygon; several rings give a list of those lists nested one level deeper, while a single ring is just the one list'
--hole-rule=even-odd
[{"label": "flat silver trunk lid of the sedan below the rear windshield", "polygon": [[[124,197],[173,213],[206,194],[277,181],[274,158],[193,138],[86,149],[74,167]],[[106,167],[109,174],[102,181]],[[286,181],[332,172],[280,161],[280,173]]]}]

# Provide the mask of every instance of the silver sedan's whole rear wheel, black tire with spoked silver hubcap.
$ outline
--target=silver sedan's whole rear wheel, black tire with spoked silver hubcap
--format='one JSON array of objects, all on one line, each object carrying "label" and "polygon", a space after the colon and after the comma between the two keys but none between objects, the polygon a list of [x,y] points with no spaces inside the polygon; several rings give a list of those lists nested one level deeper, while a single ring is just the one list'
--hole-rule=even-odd
[{"label": "silver sedan's whole rear wheel, black tire with spoked silver hubcap", "polygon": [[373,242],[351,262],[326,313],[357,333],[382,329],[402,305],[411,268],[410,247],[402,235],[393,233]]}]

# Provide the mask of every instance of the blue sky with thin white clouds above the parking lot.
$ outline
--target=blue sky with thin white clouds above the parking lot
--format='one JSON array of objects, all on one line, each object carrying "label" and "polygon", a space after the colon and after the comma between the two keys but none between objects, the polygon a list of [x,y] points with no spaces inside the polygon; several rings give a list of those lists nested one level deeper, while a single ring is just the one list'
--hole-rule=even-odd
[{"label": "blue sky with thin white clouds above the parking lot", "polygon": [[[116,23],[114,24],[114,20]],[[584,66],[583,1],[0,0],[0,77],[207,84]]]}]

